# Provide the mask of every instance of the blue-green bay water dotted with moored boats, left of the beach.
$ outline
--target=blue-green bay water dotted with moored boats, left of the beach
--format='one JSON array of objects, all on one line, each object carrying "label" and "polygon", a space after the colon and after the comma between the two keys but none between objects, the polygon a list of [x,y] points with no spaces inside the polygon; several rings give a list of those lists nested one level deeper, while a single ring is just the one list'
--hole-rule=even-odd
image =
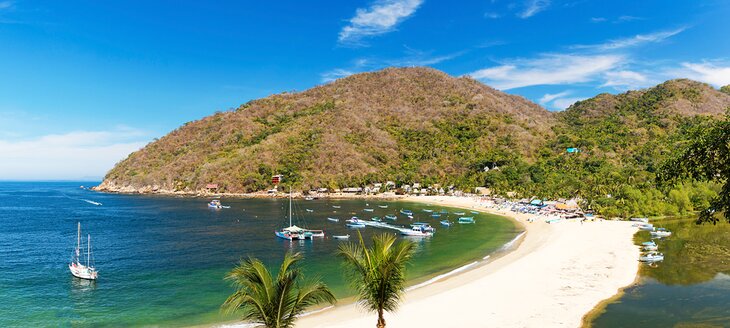
[{"label": "blue-green bay water dotted with moored boats, left of the beach", "polygon": [[[235,319],[219,311],[232,292],[223,276],[241,257],[276,264],[287,251],[301,251],[308,276],[319,276],[338,297],[351,295],[333,254],[341,241],[285,241],[273,231],[288,224],[287,201],[222,199],[230,209],[207,208],[207,199],[96,193],[89,183],[0,183],[0,327],[7,326],[189,326]],[[92,202],[102,205],[96,206]],[[365,200],[294,201],[295,224],[324,229],[328,236],[356,232],[344,227],[362,218],[415,213],[430,222],[434,237],[417,241],[409,268],[413,282],[481,259],[519,232],[510,220],[474,215],[475,225],[444,228],[425,208],[442,207]],[[341,206],[335,209],[332,205]],[[377,205],[388,205],[382,209]],[[373,213],[364,208],[373,208]],[[305,209],[312,209],[307,212]],[[449,212],[463,211],[448,209]],[[471,214],[469,214],[471,215]],[[337,217],[340,223],[327,221]],[[456,216],[449,214],[455,220]],[[92,235],[99,281],[71,277],[67,263],[76,222]],[[396,223],[408,219],[398,215]],[[373,233],[391,232],[368,227]]]}]

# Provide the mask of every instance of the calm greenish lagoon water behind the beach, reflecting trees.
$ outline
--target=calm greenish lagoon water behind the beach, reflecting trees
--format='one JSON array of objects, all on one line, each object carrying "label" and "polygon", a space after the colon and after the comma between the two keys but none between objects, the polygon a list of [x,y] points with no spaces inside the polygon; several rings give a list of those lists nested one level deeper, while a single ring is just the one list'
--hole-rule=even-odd
[{"label": "calm greenish lagoon water behind the beach, reflecting trees", "polygon": [[[593,327],[730,327],[730,224],[693,221],[652,222],[672,231],[657,241],[665,260],[642,265],[638,284],[608,304]],[[649,233],[635,239],[638,245]]]}]

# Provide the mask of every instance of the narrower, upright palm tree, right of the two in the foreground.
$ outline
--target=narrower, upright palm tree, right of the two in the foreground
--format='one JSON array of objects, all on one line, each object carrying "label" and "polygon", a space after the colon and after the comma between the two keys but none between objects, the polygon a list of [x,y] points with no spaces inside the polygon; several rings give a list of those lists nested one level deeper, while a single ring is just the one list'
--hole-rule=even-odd
[{"label": "narrower, upright palm tree, right of the two in the foreground", "polygon": [[405,291],[405,266],[413,257],[415,245],[409,241],[396,243],[395,235],[373,237],[373,246],[347,243],[337,255],[344,259],[357,298],[366,309],[378,313],[376,327],[384,328],[384,311],[395,311]]}]

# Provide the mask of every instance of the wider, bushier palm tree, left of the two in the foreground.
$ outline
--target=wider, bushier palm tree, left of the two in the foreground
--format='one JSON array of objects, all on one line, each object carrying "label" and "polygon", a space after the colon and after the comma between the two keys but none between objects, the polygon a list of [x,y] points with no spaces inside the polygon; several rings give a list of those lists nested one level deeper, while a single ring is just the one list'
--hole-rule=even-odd
[{"label": "wider, bushier palm tree, left of the two in the foreground", "polygon": [[243,320],[266,327],[293,327],[296,317],[312,305],[335,304],[335,296],[319,280],[306,281],[301,269],[300,253],[287,253],[279,273],[274,278],[258,259],[248,258],[229,272],[225,279],[232,281],[236,292],[223,303],[228,312],[241,311]]}]

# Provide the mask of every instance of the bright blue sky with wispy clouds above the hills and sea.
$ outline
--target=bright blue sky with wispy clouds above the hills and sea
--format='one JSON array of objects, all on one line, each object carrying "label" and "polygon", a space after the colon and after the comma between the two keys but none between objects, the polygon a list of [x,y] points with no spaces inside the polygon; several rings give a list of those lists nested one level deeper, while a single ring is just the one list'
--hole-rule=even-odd
[{"label": "bright blue sky with wispy clouds above the hills and sea", "polygon": [[182,123],[387,66],[550,110],[730,84],[730,2],[0,0],[0,179],[100,177]]}]

